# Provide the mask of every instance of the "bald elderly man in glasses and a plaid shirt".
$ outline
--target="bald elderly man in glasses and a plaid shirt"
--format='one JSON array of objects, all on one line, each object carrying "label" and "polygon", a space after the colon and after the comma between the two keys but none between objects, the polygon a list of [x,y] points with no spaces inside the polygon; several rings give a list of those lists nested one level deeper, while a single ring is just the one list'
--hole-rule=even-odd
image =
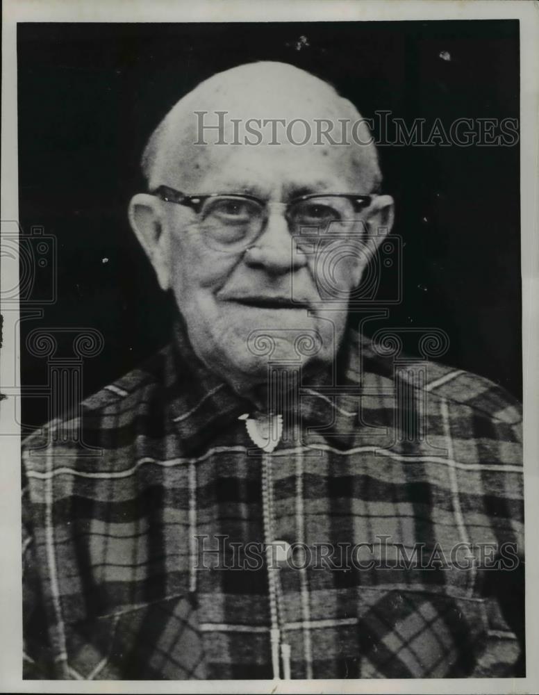
[{"label": "bald elderly man in glasses and a plaid shirt", "polygon": [[393,218],[369,140],[281,63],[213,76],[151,136],[129,219],[178,320],[77,436],[24,445],[29,678],[519,673],[490,579],[521,576],[517,404],[347,327]]}]

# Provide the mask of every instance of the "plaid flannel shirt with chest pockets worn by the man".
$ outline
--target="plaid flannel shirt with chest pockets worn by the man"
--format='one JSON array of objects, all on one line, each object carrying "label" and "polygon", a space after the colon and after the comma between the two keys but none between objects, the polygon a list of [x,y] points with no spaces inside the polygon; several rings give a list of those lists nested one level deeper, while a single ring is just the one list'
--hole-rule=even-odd
[{"label": "plaid flannel shirt with chest pockets worn by the man", "polygon": [[[524,675],[521,419],[503,390],[351,333],[283,401],[271,453],[252,409],[178,332],[26,440],[26,678],[286,676],[276,639],[292,678]],[[238,559],[271,541],[293,562]],[[417,548],[440,562],[403,563]],[[458,569],[455,548],[477,562]]]}]

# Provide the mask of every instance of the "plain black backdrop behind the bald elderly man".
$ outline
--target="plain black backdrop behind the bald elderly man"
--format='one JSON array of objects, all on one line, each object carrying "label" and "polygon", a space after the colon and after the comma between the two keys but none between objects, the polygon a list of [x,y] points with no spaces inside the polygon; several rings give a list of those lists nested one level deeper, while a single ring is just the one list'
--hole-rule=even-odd
[{"label": "plain black backdrop behind the bald elderly man", "polygon": [[[19,24],[19,204],[25,234],[57,239],[58,300],[36,327],[93,327],[105,338],[84,366],[84,395],[167,340],[171,309],[128,227],[143,189],[147,137],[215,72],[282,60],[327,79],[365,117],[519,117],[517,21],[256,24]],[[450,60],[440,58],[447,51]],[[381,147],[383,190],[404,242],[403,302],[387,322],[438,327],[442,361],[520,398],[519,145]],[[103,259],[108,262],[103,263]],[[49,280],[36,279],[39,299]],[[413,350],[413,345],[409,346]],[[23,384],[47,363],[22,351]],[[23,423],[47,419],[26,398]]]}]

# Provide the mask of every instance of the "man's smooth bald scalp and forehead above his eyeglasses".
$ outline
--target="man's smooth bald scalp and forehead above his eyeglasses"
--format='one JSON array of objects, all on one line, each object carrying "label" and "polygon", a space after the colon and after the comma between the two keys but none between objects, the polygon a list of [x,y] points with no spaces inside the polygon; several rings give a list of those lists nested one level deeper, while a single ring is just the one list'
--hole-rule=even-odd
[{"label": "man's smooth bald scalp and forehead above his eyeglasses", "polygon": [[[213,76],[174,106],[154,137],[151,185],[194,190],[210,174],[376,179],[372,145],[351,128],[361,117],[324,81],[279,63]],[[367,133],[367,135],[366,135]],[[368,142],[365,124],[356,129]],[[151,148],[149,148],[151,150]],[[343,184],[344,185],[344,184]]]}]

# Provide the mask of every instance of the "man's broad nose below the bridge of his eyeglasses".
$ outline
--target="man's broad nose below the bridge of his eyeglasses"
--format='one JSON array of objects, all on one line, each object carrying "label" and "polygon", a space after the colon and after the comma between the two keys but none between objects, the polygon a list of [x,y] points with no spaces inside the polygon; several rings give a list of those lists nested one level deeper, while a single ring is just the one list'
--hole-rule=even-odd
[{"label": "man's broad nose below the bridge of his eyeglasses", "polygon": [[245,262],[251,267],[262,267],[267,272],[281,275],[294,272],[306,265],[306,256],[290,234],[285,211],[272,208],[267,213],[265,225],[256,243],[245,254]]}]

